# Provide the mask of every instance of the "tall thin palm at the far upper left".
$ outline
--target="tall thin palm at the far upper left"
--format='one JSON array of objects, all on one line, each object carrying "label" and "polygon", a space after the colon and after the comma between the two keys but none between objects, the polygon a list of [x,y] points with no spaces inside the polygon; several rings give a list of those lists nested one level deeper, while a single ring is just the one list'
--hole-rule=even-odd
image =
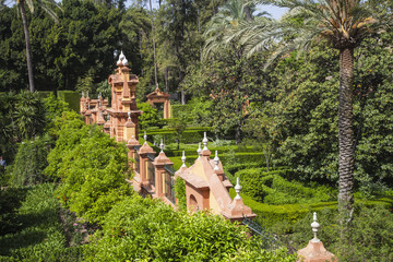
[{"label": "tall thin palm at the far upper left", "polygon": [[52,17],[56,22],[58,21],[57,14],[51,9],[51,7],[57,7],[60,9],[60,7],[56,3],[55,0],[38,0],[36,2],[34,2],[33,0],[16,0],[19,11],[21,12],[23,31],[24,31],[24,35],[25,35],[28,85],[29,85],[31,92],[34,92],[35,87],[34,87],[32,51],[31,51],[31,41],[29,41],[28,25],[27,25],[27,20],[26,20],[25,4],[27,4],[29,11],[33,13],[34,12],[34,3],[37,3],[40,8],[43,8],[45,10],[45,12],[47,12],[49,14],[49,16]]}]

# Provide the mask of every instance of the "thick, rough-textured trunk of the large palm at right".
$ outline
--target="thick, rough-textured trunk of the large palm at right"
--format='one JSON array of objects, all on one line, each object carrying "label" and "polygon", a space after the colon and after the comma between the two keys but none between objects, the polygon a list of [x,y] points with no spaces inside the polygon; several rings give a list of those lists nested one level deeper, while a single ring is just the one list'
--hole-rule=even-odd
[{"label": "thick, rough-textured trunk of the large palm at right", "polygon": [[354,49],[340,50],[338,105],[338,211],[341,222],[350,223],[354,204],[353,130]]}]

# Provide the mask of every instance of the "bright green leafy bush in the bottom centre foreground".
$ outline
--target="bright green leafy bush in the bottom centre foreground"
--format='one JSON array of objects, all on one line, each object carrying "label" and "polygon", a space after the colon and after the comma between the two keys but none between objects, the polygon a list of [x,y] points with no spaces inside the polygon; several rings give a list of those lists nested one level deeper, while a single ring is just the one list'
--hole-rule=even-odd
[{"label": "bright green leafy bush in the bottom centre foreground", "polygon": [[[263,261],[295,261],[286,252],[257,250],[246,228],[222,216],[175,212],[160,201],[139,195],[119,202],[103,230],[85,248],[87,261],[229,261],[255,252]],[[258,254],[257,254],[258,253]],[[289,259],[291,258],[291,259]],[[276,260],[274,260],[276,259]]]}]

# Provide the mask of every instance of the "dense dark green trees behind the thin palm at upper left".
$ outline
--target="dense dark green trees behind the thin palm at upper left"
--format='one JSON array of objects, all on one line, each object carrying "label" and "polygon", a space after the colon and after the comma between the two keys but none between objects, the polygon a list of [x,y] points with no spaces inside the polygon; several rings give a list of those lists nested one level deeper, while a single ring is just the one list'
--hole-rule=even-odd
[{"label": "dense dark green trees behind the thin palm at upper left", "polygon": [[[74,88],[88,70],[96,82],[107,79],[114,69],[114,51],[121,39],[116,29],[121,19],[117,8],[90,1],[62,1],[53,24],[41,9],[27,13],[33,68],[37,90]],[[0,91],[27,85],[27,69],[22,21],[16,8],[1,11]]]}]

